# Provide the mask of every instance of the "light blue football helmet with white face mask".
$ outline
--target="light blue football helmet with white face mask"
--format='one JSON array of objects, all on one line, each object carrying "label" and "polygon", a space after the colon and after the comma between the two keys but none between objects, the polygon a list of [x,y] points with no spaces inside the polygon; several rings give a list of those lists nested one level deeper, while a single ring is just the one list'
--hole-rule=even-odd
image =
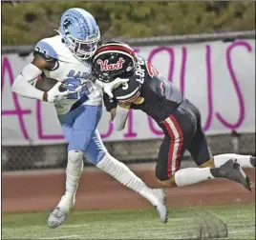
[{"label": "light blue football helmet with white face mask", "polygon": [[62,14],[58,32],[66,47],[80,60],[86,60],[95,53],[100,39],[94,16],[78,8],[66,10]]}]

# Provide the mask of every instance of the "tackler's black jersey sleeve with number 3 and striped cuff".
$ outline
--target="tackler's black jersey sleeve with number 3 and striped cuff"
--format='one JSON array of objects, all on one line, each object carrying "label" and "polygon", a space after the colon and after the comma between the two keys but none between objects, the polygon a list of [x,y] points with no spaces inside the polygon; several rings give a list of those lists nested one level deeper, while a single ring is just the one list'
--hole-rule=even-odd
[{"label": "tackler's black jersey sleeve with number 3 and striped cuff", "polygon": [[113,90],[113,94],[118,102],[133,102],[140,95],[141,85],[136,81],[134,75],[129,77],[129,82]]}]

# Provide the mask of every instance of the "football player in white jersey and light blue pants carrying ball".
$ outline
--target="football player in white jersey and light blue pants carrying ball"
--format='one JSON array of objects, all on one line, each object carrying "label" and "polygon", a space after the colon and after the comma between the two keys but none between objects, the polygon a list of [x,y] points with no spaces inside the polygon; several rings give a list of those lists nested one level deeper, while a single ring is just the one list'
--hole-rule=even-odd
[{"label": "football player in white jersey and light blue pants carrying ball", "polygon": [[[21,71],[12,85],[12,91],[21,96],[53,103],[69,142],[66,192],[51,213],[48,226],[60,226],[74,207],[84,158],[122,185],[139,192],[156,207],[160,220],[165,223],[168,212],[164,191],[148,188],[134,172],[111,156],[96,129],[102,114],[102,91],[91,78],[90,60],[99,39],[100,33],[92,14],[77,8],[66,10],[61,16],[58,34],[36,44],[32,63]],[[58,82],[51,90],[38,90],[34,84],[41,75]],[[126,80],[117,79],[104,86],[104,90],[112,90],[124,82]],[[60,86],[67,90],[60,91]]]}]

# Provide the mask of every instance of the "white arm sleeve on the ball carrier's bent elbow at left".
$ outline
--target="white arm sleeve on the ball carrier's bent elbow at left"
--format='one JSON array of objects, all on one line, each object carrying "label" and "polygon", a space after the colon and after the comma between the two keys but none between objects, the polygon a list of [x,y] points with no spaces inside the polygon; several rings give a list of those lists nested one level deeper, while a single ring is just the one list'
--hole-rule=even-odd
[{"label": "white arm sleeve on the ball carrier's bent elbow at left", "polygon": [[32,86],[34,80],[41,74],[42,70],[39,70],[32,63],[28,64],[14,79],[11,90],[24,97],[43,100],[44,92]]}]

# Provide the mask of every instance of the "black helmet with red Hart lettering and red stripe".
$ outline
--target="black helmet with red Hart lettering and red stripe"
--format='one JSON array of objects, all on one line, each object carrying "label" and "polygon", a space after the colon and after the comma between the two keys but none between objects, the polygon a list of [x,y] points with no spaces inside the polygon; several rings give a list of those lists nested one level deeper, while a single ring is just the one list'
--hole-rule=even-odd
[{"label": "black helmet with red Hart lettering and red stripe", "polygon": [[92,57],[92,74],[101,82],[109,83],[117,77],[127,78],[134,73],[135,52],[122,43],[105,43]]}]

